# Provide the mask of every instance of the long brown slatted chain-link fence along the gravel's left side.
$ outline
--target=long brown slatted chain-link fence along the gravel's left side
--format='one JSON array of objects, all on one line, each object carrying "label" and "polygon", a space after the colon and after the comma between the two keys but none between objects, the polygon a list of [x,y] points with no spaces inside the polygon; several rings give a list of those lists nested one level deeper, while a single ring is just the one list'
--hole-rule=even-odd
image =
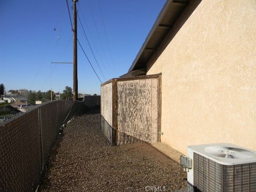
[{"label": "long brown slatted chain-link fence along the gravel's left side", "polygon": [[99,100],[48,102],[0,124],[0,191],[35,191],[60,127]]}]

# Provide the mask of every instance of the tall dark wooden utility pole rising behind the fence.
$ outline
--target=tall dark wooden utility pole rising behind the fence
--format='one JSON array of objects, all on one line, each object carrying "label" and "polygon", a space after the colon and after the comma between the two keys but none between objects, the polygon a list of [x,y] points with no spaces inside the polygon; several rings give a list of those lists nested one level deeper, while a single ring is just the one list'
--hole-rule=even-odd
[{"label": "tall dark wooden utility pole rising behind the fence", "polygon": [[76,2],[73,0],[73,37],[74,37],[74,61],[73,61],[73,100],[76,101],[78,97],[78,81],[77,81],[77,25],[76,25]]}]

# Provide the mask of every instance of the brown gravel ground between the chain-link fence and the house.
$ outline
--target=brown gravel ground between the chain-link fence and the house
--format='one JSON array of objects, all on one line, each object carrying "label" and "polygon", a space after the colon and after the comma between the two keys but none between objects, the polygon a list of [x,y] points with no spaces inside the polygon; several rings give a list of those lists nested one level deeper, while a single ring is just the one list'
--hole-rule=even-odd
[{"label": "brown gravel ground between the chain-link fence and the house", "polygon": [[147,143],[110,146],[100,114],[71,121],[52,150],[38,191],[176,191],[186,174]]}]

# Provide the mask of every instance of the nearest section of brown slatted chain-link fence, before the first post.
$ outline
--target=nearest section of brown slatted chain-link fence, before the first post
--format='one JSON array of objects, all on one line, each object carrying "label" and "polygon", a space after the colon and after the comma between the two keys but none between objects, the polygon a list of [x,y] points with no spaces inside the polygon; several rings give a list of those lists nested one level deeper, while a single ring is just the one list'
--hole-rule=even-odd
[{"label": "nearest section of brown slatted chain-link fence, before the first post", "polygon": [[0,126],[0,191],[33,191],[41,174],[38,110]]}]

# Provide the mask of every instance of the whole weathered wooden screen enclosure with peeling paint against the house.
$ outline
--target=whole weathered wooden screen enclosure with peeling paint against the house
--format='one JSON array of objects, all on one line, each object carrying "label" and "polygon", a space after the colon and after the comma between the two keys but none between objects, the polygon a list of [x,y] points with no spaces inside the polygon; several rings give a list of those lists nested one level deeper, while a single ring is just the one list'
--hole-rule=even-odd
[{"label": "whole weathered wooden screen enclosure with peeling paint against the house", "polygon": [[117,78],[101,85],[101,115],[102,121],[105,121],[102,131],[113,145],[159,141],[159,81],[161,75],[152,75]]}]

